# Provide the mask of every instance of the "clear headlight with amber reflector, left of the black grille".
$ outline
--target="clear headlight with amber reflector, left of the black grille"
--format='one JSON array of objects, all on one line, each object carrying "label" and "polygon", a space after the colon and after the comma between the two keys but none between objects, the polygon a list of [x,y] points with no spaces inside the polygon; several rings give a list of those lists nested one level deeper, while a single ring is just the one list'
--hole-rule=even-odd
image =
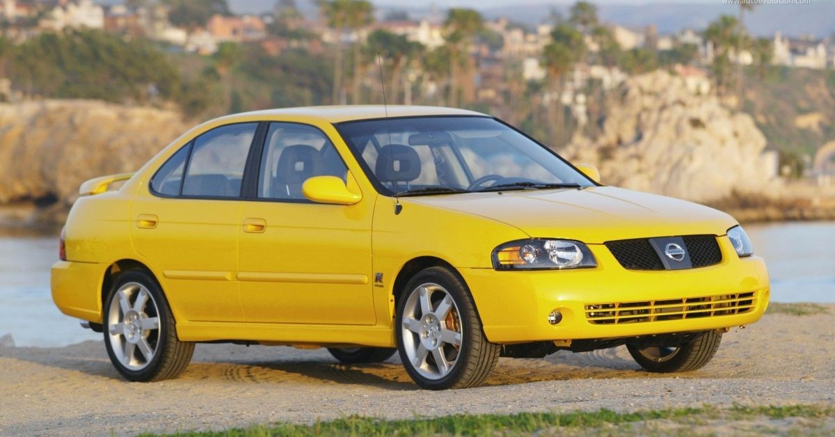
[{"label": "clear headlight with amber reflector, left of the black grille", "polygon": [[504,243],[493,250],[496,270],[597,267],[588,246],[573,240],[533,238]]}]

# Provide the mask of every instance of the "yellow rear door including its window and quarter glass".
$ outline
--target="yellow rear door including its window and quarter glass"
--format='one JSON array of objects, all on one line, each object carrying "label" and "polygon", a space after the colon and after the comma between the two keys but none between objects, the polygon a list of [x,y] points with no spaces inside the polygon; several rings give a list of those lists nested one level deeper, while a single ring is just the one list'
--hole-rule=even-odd
[{"label": "yellow rear door including its window and quarter glass", "polygon": [[235,281],[240,192],[258,126],[226,124],[196,137],[133,202],[134,246],[163,272],[179,318],[245,320]]}]

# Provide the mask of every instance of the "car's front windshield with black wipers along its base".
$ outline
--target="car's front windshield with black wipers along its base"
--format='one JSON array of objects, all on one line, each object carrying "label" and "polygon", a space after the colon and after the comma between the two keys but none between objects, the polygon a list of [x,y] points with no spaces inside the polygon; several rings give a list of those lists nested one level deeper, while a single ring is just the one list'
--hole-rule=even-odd
[{"label": "car's front windshield with black wipers along its base", "polygon": [[415,117],[337,125],[384,195],[594,185],[519,131],[487,117]]}]

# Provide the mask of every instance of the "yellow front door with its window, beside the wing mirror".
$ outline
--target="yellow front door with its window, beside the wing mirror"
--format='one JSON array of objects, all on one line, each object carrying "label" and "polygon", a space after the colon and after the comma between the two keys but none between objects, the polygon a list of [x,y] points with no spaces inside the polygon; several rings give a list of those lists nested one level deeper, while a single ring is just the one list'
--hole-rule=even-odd
[{"label": "yellow front door with its window, beside the wing mirror", "polygon": [[308,201],[316,175],[357,183],[328,140],[307,124],[271,123],[261,151],[257,199],[239,226],[241,302],[256,323],[372,325],[373,199],[356,205]]}]

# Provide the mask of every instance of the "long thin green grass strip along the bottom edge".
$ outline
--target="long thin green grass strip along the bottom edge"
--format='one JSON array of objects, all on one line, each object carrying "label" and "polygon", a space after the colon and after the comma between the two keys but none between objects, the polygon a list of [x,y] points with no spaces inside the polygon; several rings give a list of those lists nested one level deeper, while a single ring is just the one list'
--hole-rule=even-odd
[{"label": "long thin green grass strip along the bottom edge", "polygon": [[[629,426],[652,420],[693,423],[704,419],[750,419],[789,417],[825,419],[835,417],[835,407],[801,404],[787,406],[742,406],[716,409],[705,406],[686,409],[656,409],[617,413],[609,409],[572,413],[453,414],[438,418],[385,420],[357,415],[316,424],[256,425],[220,432],[190,432],[177,436],[307,436],[307,435],[483,435],[483,434],[559,434],[559,428],[583,430]],[[149,435],[149,434],[146,434]]]}]

